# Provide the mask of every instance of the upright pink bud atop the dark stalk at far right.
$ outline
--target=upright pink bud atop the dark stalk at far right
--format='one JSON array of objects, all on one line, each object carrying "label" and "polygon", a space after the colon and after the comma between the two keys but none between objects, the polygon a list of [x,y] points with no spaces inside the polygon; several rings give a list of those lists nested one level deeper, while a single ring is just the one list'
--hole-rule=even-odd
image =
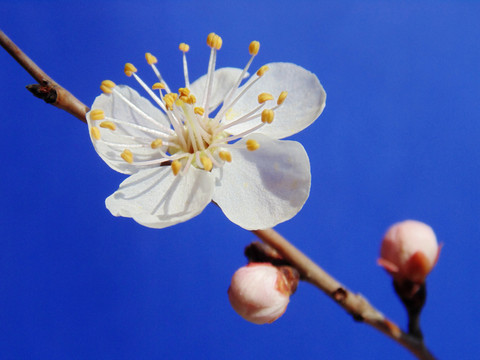
[{"label": "upright pink bud atop the dark stalk at far right", "polygon": [[392,225],[383,237],[378,264],[396,282],[421,284],[435,266],[440,248],[432,228],[415,220]]}]

